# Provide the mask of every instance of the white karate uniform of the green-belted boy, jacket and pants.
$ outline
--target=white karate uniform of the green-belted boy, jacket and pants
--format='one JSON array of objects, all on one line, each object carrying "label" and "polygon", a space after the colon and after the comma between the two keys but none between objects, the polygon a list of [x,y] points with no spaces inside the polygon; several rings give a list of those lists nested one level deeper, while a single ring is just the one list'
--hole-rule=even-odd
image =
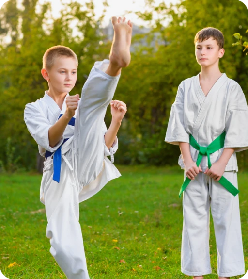
[{"label": "white karate uniform of the green-belted boy, jacket and pants", "polygon": [[[200,86],[199,74],[181,82],[171,107],[165,141],[179,145],[189,143],[191,134],[200,146],[207,147],[226,131],[224,148],[248,148],[248,107],[239,84],[223,74],[207,96]],[[221,156],[223,148],[210,154],[211,163]],[[236,153],[233,153],[223,174],[237,188]],[[190,145],[196,162],[199,151]],[[179,165],[184,169],[182,155]],[[208,167],[203,156],[203,172]],[[186,175],[185,175],[186,178]],[[179,189],[178,189],[179,190]],[[242,195],[242,193],[241,193]],[[209,255],[209,208],[214,220],[217,242],[218,275],[236,276],[245,273],[238,195],[234,197],[219,182],[199,173],[190,181],[183,195],[183,237],[181,270],[189,276],[211,273]]]}]

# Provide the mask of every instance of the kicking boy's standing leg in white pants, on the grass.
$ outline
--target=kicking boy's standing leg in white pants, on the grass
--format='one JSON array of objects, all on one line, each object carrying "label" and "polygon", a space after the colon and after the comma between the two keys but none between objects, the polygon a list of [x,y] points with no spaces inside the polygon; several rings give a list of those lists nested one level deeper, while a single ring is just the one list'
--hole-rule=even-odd
[{"label": "kicking boy's standing leg in white pants, on the grass", "polygon": [[62,160],[60,183],[52,180],[44,191],[50,253],[68,279],[90,279],[79,220],[78,188]]}]

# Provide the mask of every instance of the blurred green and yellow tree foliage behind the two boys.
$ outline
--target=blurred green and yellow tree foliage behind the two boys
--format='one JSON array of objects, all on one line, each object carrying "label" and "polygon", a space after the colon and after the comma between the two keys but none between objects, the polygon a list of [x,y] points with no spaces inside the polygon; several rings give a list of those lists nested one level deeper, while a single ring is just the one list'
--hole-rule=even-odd
[{"label": "blurred green and yellow tree foliage behind the two boys", "polygon": [[[101,35],[103,16],[95,18],[92,0],[84,5],[77,1],[64,4],[57,19],[52,17],[49,3],[23,0],[23,5],[19,10],[16,0],[8,1],[0,14],[0,160],[5,162],[4,142],[11,137],[16,158],[21,156],[22,164],[31,169],[35,167],[37,145],[27,131],[23,111],[28,102],[43,97],[47,90],[47,82],[40,73],[44,52],[58,44],[76,52],[78,81],[71,94],[77,94],[93,63],[108,58],[111,42]],[[40,9],[36,9],[37,5]],[[244,52],[233,48],[233,34],[236,40],[248,42],[243,28],[248,26],[248,11],[240,0],[183,0],[170,5],[147,0],[146,7],[143,14],[137,15],[146,20],[151,31],[133,37],[132,61],[122,70],[115,94],[116,99],[126,102],[128,109],[118,133],[120,149],[115,161],[177,164],[179,148],[164,143],[164,138],[178,85],[200,71],[194,36],[206,26],[224,33],[225,55],[220,60],[220,69],[237,81],[248,96],[248,61]],[[73,35],[75,30],[78,33]],[[2,38],[7,33],[12,40],[4,44]],[[100,45],[100,41],[104,43]],[[109,110],[107,126],[110,121]]]}]

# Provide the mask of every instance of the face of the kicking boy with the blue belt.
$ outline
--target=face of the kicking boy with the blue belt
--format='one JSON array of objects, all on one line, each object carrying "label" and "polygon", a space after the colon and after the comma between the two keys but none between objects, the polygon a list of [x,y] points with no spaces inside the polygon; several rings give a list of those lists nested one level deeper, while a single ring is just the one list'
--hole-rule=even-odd
[{"label": "face of the kicking boy with the blue belt", "polygon": [[56,57],[51,69],[47,70],[49,89],[58,94],[70,92],[77,81],[77,68],[74,58]]}]

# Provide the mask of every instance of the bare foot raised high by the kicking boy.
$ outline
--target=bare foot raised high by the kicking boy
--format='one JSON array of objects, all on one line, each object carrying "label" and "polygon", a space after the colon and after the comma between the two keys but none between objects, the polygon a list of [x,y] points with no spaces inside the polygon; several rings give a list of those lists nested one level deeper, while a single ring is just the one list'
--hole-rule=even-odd
[{"label": "bare foot raised high by the kicking boy", "polygon": [[120,68],[127,67],[131,60],[130,45],[132,38],[132,23],[126,18],[112,17],[114,38],[109,54],[110,63]]}]

